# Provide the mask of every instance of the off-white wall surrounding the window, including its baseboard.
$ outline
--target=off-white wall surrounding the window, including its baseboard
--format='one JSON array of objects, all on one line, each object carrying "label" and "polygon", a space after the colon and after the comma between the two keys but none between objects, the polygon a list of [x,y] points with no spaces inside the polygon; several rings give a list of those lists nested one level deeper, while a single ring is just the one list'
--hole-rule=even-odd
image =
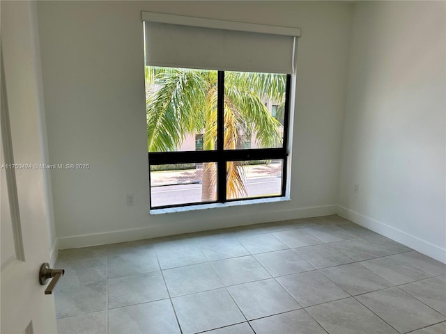
[{"label": "off-white wall surrounding the window, including its baseboard", "polygon": [[[148,214],[141,10],[302,29],[290,201]],[[334,213],[351,15],[349,3],[39,1],[49,158],[91,165],[52,171],[61,247]]]}]

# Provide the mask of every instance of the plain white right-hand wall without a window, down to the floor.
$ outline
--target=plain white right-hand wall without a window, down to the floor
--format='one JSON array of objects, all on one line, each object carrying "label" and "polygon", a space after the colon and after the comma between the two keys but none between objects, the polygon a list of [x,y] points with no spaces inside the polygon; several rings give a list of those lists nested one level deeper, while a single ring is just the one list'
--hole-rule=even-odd
[{"label": "plain white right-hand wall without a window, down to the floor", "polygon": [[443,262],[445,4],[355,5],[339,181],[342,215]]}]

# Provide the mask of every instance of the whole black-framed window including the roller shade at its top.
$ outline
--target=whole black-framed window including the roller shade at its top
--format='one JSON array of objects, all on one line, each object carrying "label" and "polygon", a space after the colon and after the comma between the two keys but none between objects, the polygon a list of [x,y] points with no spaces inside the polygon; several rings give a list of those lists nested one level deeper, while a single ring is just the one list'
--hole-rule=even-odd
[{"label": "whole black-framed window including the roller shade at its top", "polygon": [[143,19],[151,209],[285,196],[293,57],[259,57],[256,47],[294,52],[295,38]]}]

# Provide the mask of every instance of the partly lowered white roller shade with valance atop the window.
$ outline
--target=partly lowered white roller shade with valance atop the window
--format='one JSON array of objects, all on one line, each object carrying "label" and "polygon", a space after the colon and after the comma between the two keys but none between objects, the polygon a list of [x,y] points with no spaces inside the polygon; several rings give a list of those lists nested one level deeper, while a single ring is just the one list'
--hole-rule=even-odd
[{"label": "partly lowered white roller shade with valance atop the window", "polygon": [[300,29],[143,12],[146,65],[293,73]]}]

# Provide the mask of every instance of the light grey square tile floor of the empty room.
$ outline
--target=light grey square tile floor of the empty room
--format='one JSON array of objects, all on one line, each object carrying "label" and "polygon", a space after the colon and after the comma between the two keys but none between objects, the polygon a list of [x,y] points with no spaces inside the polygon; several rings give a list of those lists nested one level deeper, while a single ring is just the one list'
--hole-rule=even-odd
[{"label": "light grey square tile floor of the empty room", "polygon": [[443,334],[446,265],[339,216],[61,250],[59,333]]}]

